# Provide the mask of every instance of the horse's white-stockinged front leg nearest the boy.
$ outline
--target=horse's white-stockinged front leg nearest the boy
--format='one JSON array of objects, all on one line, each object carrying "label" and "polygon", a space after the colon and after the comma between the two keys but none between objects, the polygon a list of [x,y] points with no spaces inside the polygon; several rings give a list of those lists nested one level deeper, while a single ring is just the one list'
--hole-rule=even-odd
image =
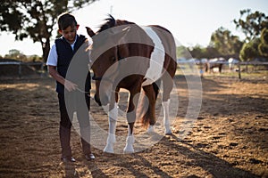
[{"label": "horse's white-stockinged front leg nearest the boy", "polygon": [[114,103],[113,109],[109,110],[108,116],[109,116],[109,132],[104,151],[113,153],[113,144],[116,142],[115,130],[116,130],[116,121],[118,117],[118,106],[116,102]]}]

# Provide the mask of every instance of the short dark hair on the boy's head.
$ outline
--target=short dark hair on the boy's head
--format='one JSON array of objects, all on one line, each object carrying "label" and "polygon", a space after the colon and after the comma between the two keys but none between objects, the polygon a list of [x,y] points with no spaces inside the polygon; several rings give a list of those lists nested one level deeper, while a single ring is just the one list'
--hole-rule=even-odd
[{"label": "short dark hair on the boy's head", "polygon": [[68,28],[69,26],[75,27],[77,26],[77,21],[74,16],[69,12],[64,12],[58,17],[58,25],[59,29],[63,30]]}]

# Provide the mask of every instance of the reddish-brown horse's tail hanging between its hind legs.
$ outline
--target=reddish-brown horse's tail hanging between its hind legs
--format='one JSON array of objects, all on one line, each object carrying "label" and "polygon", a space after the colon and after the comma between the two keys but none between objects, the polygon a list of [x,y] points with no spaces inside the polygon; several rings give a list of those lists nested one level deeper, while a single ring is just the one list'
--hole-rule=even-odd
[{"label": "reddish-brown horse's tail hanging between its hind legs", "polygon": [[[142,93],[140,94],[139,101],[138,101],[138,109],[137,109],[137,117],[140,118],[142,125],[147,127],[147,125],[155,125],[155,107],[152,106],[152,102],[155,105],[155,101],[157,99],[157,95],[159,93],[159,87],[157,83],[153,83],[150,87],[152,87],[149,90],[142,90]],[[148,86],[146,86],[148,87]],[[151,92],[151,93],[150,93]],[[152,92],[154,95],[152,95]],[[152,101],[148,100],[148,97],[155,97],[154,99],[151,99]],[[151,102],[151,103],[150,103]],[[151,106],[150,106],[151,104]]]}]

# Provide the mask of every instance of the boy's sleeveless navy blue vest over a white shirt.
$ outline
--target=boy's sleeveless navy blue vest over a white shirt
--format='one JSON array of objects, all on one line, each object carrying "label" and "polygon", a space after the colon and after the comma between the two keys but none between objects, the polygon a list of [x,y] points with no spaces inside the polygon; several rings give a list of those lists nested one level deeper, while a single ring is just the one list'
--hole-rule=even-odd
[{"label": "boy's sleeveless navy blue vest over a white shirt", "polygon": [[[90,72],[88,68],[89,58],[85,52],[88,47],[85,36],[77,36],[73,50],[64,37],[56,39],[55,47],[58,54],[57,71],[58,73],[77,84],[80,90],[89,92]],[[64,93],[64,86],[56,82],[56,92]]]}]

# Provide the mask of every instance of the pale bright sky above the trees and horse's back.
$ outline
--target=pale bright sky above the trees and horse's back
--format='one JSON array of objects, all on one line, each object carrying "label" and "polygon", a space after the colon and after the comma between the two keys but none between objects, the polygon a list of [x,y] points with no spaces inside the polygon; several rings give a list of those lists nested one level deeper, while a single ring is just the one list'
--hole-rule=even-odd
[{"label": "pale bright sky above the trees and horse's back", "polygon": [[[129,20],[138,25],[161,25],[169,29],[177,44],[206,46],[212,33],[220,28],[227,28],[232,35],[243,39],[245,36],[235,28],[232,20],[238,20],[239,11],[251,9],[268,15],[267,0],[99,0],[94,4],[72,14],[80,24],[79,34],[88,36],[85,27],[97,30],[105,22],[108,13],[114,19]],[[57,24],[54,26],[56,34]],[[26,55],[42,55],[40,43],[33,43],[27,38],[15,41],[12,33],[0,32],[0,55],[9,50],[20,50]],[[51,38],[54,44],[55,36]]]}]

